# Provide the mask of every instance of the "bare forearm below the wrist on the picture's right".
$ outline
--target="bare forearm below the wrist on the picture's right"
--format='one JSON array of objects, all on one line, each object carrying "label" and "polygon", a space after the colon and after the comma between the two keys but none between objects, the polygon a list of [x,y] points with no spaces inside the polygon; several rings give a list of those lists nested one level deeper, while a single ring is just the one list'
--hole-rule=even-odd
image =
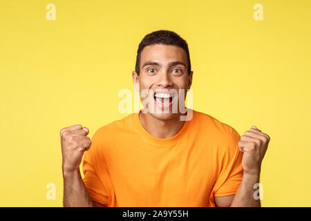
[{"label": "bare forearm below the wrist on the picture's right", "polygon": [[254,198],[254,184],[259,183],[259,174],[243,174],[243,179],[234,195],[234,200],[232,201],[232,207],[260,207],[260,200]]}]

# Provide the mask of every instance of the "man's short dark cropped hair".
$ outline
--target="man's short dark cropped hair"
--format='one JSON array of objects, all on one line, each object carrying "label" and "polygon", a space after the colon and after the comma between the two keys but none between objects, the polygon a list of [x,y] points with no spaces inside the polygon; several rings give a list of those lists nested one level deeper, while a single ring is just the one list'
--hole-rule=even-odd
[{"label": "man's short dark cropped hair", "polygon": [[191,62],[190,55],[187,42],[182,39],[175,32],[169,30],[157,30],[155,32],[151,32],[146,35],[138,46],[137,57],[136,57],[136,66],[135,71],[138,75],[140,75],[140,54],[142,53],[142,49],[146,46],[151,46],[153,44],[165,44],[169,46],[179,46],[184,49],[187,54],[187,63],[188,63],[188,75],[191,72]]}]

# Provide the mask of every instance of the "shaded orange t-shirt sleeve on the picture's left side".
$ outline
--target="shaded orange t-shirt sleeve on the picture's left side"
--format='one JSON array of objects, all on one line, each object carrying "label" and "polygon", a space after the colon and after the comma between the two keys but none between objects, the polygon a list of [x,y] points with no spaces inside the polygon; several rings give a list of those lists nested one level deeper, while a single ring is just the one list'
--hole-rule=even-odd
[{"label": "shaded orange t-shirt sleeve on the picture's left side", "polygon": [[109,191],[105,182],[108,182],[109,173],[106,162],[100,151],[100,137],[95,133],[91,141],[91,148],[84,153],[82,170],[84,185],[92,200],[108,206]]}]

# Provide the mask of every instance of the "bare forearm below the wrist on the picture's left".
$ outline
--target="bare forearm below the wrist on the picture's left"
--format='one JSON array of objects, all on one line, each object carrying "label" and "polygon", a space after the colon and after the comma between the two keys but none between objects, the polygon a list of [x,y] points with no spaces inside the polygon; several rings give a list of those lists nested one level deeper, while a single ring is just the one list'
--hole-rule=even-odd
[{"label": "bare forearm below the wrist on the picture's left", "polygon": [[93,207],[93,201],[86,190],[79,169],[63,172],[64,206]]}]

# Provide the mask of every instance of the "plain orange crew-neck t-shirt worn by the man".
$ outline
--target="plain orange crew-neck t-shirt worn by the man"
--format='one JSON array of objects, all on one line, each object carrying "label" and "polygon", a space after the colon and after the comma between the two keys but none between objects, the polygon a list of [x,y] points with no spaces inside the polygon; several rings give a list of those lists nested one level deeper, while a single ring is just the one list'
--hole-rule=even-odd
[{"label": "plain orange crew-neck t-shirt worn by the man", "polygon": [[133,113],[95,132],[84,184],[106,206],[215,206],[215,196],[241,184],[239,140],[234,128],[198,111],[173,137],[153,137]]}]

